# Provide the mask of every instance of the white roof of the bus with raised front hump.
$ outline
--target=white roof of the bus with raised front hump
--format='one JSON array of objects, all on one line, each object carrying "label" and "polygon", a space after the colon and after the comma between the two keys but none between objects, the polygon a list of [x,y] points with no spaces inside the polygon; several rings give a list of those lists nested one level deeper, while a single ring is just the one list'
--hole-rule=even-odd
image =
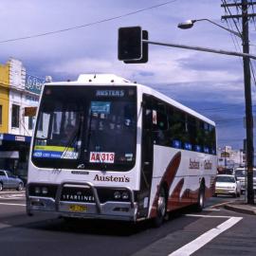
[{"label": "white roof of the bus with raised front hump", "polygon": [[174,105],[174,107],[183,110],[192,116],[204,120],[211,125],[215,126],[214,121],[204,117],[203,115],[195,112],[189,107],[174,101],[173,99],[163,95],[162,93],[156,91],[155,89],[139,84],[137,82],[131,82],[114,74],[82,74],[79,76],[77,81],[68,81],[68,82],[48,82],[46,85],[134,85],[140,88],[144,93],[149,93],[162,101],[167,101],[170,104]]}]

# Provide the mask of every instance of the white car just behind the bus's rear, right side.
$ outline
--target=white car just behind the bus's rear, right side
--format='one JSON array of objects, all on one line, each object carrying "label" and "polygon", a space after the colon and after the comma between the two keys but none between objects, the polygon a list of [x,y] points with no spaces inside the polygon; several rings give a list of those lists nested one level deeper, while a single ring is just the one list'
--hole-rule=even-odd
[{"label": "white car just behind the bus's rear, right side", "polygon": [[233,197],[240,196],[241,184],[234,175],[219,174],[216,176],[215,193],[218,194],[230,194]]}]

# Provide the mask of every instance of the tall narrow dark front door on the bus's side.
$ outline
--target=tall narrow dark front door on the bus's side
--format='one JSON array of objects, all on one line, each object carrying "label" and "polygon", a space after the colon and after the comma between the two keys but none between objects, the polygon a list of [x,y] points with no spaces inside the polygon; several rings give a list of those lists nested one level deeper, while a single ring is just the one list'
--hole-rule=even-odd
[{"label": "tall narrow dark front door on the bus's side", "polygon": [[148,215],[153,175],[152,97],[142,98],[142,138],[140,191],[137,194],[138,217]]}]

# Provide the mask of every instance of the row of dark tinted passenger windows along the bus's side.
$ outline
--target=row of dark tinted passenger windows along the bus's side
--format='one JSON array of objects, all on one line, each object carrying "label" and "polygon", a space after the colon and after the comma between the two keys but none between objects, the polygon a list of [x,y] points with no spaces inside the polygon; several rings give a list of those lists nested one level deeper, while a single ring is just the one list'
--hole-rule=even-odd
[{"label": "row of dark tinted passenger windows along the bus's side", "polygon": [[155,144],[216,155],[214,126],[164,101],[152,99],[152,115],[158,119],[165,117],[168,122],[165,129],[153,128]]}]

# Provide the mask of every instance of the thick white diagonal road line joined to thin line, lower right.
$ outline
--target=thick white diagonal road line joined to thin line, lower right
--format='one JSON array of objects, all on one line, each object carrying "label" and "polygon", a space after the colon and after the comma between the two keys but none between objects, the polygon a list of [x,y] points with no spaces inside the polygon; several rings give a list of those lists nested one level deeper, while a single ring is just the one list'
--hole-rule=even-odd
[{"label": "thick white diagonal road line joined to thin line, lower right", "polygon": [[[188,214],[190,215],[190,214]],[[193,215],[194,216],[194,215]],[[198,215],[203,217],[205,215]],[[210,216],[210,217],[217,217],[217,216]],[[227,218],[227,216],[218,216],[219,218]],[[230,229],[239,221],[241,221],[243,217],[229,217],[229,220],[225,221],[224,223],[220,224],[214,229],[210,229],[209,231],[203,233],[202,235],[198,236],[194,239],[191,243],[185,245],[184,247],[180,247],[179,249],[175,250],[168,256],[188,256],[191,255],[193,252],[198,250],[201,247],[204,247],[208,244],[213,238],[221,234],[222,232]]]}]

